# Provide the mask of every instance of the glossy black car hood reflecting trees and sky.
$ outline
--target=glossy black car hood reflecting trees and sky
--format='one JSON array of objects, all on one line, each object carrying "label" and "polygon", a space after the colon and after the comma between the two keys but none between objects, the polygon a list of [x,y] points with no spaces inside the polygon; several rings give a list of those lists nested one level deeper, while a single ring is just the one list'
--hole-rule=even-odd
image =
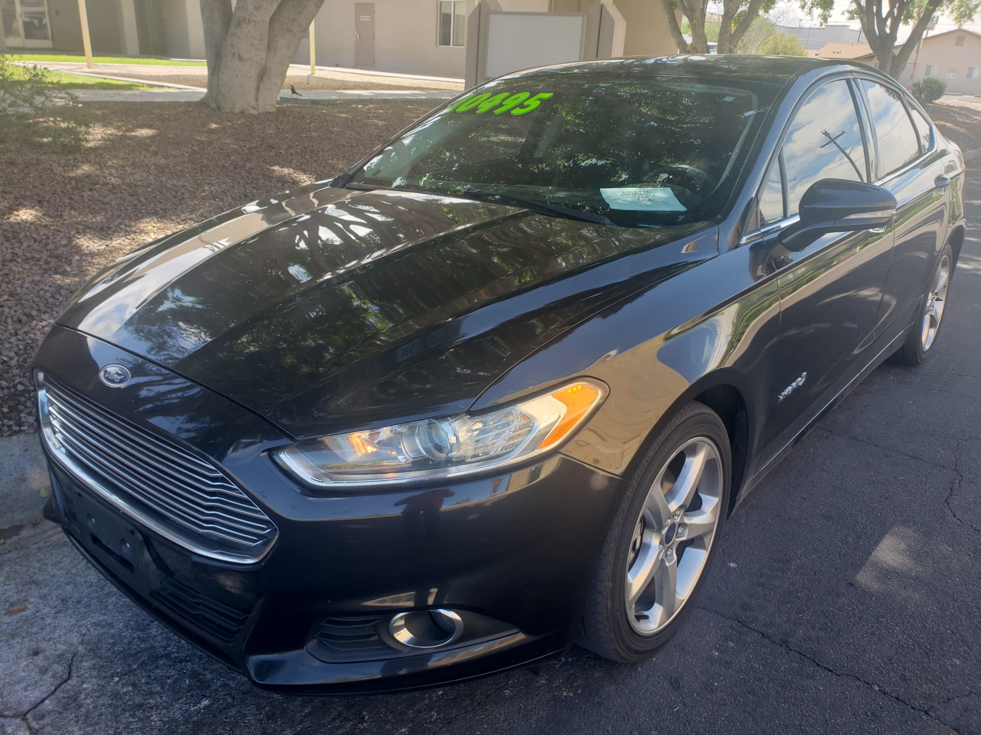
[{"label": "glossy black car hood reflecting trees and sky", "polygon": [[465,411],[557,334],[714,255],[662,247],[707,227],[320,183],[129,254],[58,323],[312,436]]}]

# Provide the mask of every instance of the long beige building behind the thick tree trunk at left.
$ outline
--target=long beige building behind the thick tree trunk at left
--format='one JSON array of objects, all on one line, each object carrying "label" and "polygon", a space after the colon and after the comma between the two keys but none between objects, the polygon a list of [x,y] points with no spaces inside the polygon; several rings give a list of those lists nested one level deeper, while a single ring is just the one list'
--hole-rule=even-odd
[{"label": "long beige building behind the thick tree trunk at left", "polygon": [[[325,0],[314,25],[317,64],[463,77],[468,37],[477,37],[467,33],[477,2]],[[554,47],[551,55],[545,53],[542,57],[549,62],[595,57],[589,34],[597,31],[587,16],[598,17],[596,8],[600,6],[606,6],[607,20],[615,20],[617,38],[606,38],[605,45],[600,44],[613,49],[616,53],[612,55],[677,53],[661,3],[656,0],[485,2],[496,15],[529,14],[512,19],[515,27],[524,25],[523,20],[541,25],[545,33],[537,45]],[[204,58],[199,0],[87,0],[87,7],[96,54]],[[574,37],[577,16],[582,28],[578,41]],[[495,22],[503,28],[504,20]],[[0,0],[0,21],[0,47],[81,50],[77,0]],[[562,46],[561,39],[553,35],[553,28],[562,30],[571,40]],[[604,26],[607,36],[612,32],[610,28],[610,23]],[[490,41],[493,40],[491,36]],[[488,38],[484,37],[484,41]],[[307,41],[300,43],[294,62],[309,63]]]}]

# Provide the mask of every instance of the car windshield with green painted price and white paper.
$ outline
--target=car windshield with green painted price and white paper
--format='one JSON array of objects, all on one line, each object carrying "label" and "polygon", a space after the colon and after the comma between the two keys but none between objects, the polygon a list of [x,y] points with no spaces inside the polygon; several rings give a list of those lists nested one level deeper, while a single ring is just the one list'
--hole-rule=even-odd
[{"label": "car windshield with green painted price and white paper", "polygon": [[402,133],[343,185],[526,203],[626,226],[712,219],[779,89],[642,74],[500,79]]}]

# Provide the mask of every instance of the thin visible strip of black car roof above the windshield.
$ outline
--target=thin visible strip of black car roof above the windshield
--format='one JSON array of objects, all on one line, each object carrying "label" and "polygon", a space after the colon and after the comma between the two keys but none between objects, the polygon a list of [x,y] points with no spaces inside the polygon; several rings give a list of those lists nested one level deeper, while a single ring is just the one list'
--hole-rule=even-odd
[{"label": "thin visible strip of black car roof above the windshield", "polygon": [[539,73],[636,73],[702,78],[739,77],[755,81],[784,84],[800,73],[818,67],[841,67],[843,70],[870,67],[843,60],[815,59],[809,56],[758,56],[755,54],[686,54],[679,56],[628,56],[620,59],[597,59],[507,74],[503,78]]}]

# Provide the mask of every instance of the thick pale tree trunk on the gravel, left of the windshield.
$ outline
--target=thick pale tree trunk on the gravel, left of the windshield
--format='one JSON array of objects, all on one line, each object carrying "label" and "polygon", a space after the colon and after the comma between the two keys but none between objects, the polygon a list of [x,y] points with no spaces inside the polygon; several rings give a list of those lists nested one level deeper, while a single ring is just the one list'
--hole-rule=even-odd
[{"label": "thick pale tree trunk on the gravel, left of the windshield", "polygon": [[232,113],[276,109],[304,31],[324,0],[201,0],[205,104]]}]

